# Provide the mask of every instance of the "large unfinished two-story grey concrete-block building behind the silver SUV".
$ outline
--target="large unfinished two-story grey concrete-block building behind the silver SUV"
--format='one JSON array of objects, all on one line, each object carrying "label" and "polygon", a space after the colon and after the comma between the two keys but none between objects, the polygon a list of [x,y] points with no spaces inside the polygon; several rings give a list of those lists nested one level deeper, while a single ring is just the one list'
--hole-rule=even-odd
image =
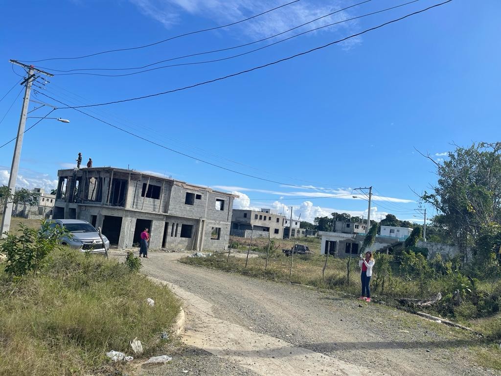
[{"label": "large unfinished two-story grey concrete-block building behind the silver SUV", "polygon": [[150,231],[150,249],[225,250],[237,196],[150,173],[114,167],[63,169],[54,219],[101,227],[112,245],[137,246]]}]

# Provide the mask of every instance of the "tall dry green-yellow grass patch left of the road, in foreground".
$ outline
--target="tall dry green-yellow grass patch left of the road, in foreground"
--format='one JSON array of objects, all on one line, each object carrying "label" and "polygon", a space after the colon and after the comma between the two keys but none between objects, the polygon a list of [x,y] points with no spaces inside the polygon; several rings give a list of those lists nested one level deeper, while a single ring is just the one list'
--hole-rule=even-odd
[{"label": "tall dry green-yellow grass patch left of the road, in foreground", "polygon": [[0,271],[0,375],[113,374],[105,353],[132,354],[138,337],[153,354],[178,309],[168,289],[126,265],[69,249],[38,275]]}]

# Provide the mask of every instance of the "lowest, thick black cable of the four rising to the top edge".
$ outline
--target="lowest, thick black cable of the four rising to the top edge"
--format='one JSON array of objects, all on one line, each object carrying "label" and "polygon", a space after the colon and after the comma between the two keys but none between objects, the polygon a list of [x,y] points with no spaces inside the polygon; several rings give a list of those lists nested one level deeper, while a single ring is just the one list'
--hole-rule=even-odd
[{"label": "lowest, thick black cable of the four rising to the top edge", "polygon": [[447,0],[443,3],[439,3],[439,4],[435,4],[433,6],[430,6],[428,8],[425,8],[425,9],[422,9],[420,11],[416,11],[416,12],[413,12],[413,13],[410,13],[408,15],[405,15],[405,16],[402,16],[400,18],[397,18],[395,20],[391,20],[391,21],[388,21],[388,22],[385,22],[384,24],[381,24],[381,25],[378,25],[378,26],[375,26],[373,28],[370,28],[370,29],[366,29],[360,33],[356,33],[356,34],[352,34],[348,37],[345,37],[343,39],[339,39],[337,41],[334,41],[334,42],[330,42],[328,44],[325,44],[323,46],[319,46],[319,47],[315,47],[311,50],[308,50],[308,51],[304,51],[304,52],[301,52],[299,54],[295,54],[295,55],[292,55],[292,56],[289,56],[289,57],[286,57],[286,58],[283,58],[283,59],[280,59],[280,60],[276,60],[274,62],[271,62],[271,63],[267,63],[267,64],[264,64],[264,65],[260,65],[260,66],[257,66],[257,67],[254,67],[254,68],[250,68],[250,69],[246,69],[244,71],[240,71],[240,72],[236,72],[236,73],[232,73],[232,74],[229,74],[229,75],[226,75],[226,76],[222,76],[222,77],[218,77],[218,78],[214,78],[212,80],[208,80],[208,81],[203,81],[203,82],[199,82],[199,83],[196,83],[196,84],[193,84],[193,85],[189,85],[189,86],[184,86],[184,87],[181,87],[181,88],[177,88],[177,89],[172,89],[172,90],[167,90],[167,91],[163,91],[163,92],[160,92],[160,93],[155,93],[155,94],[149,94],[149,95],[143,95],[143,96],[140,96],[140,97],[135,97],[135,98],[129,98],[129,99],[122,99],[122,100],[117,100],[117,101],[111,101],[111,102],[104,102],[104,103],[96,103],[96,104],[89,104],[89,105],[84,105],[84,106],[76,106],[76,107],[71,107],[71,106],[68,106],[68,107],[62,107],[62,108],[86,108],[86,107],[97,107],[97,106],[106,106],[106,105],[109,105],[109,104],[115,104],[115,103],[124,103],[124,102],[131,102],[131,101],[135,101],[135,100],[140,100],[140,99],[146,99],[146,98],[152,98],[152,97],[157,97],[157,96],[160,96],[160,95],[165,95],[165,94],[170,94],[170,93],[174,93],[174,92],[177,92],[177,91],[182,91],[182,90],[186,90],[186,89],[191,89],[191,88],[194,88],[194,87],[197,87],[197,86],[202,86],[202,85],[206,85],[206,84],[210,84],[210,83],[213,83],[213,82],[217,82],[217,81],[222,81],[224,79],[227,79],[227,78],[230,78],[230,77],[235,77],[235,76],[239,76],[241,74],[244,74],[244,73],[249,73],[249,72],[253,72],[253,71],[256,71],[256,70],[259,70],[259,69],[263,69],[263,68],[266,68],[266,67],[269,67],[269,66],[272,66],[272,65],[275,65],[275,64],[279,64],[279,63],[282,63],[284,61],[288,61],[288,60],[292,60],[294,58],[297,58],[299,56],[303,56],[303,55],[307,55],[307,54],[310,54],[314,51],[318,51],[318,50],[321,50],[321,49],[324,49],[326,47],[329,47],[329,46],[332,46],[334,44],[338,44],[338,43],[341,43],[341,42],[344,42],[350,38],[354,38],[354,37],[358,37],[362,34],[365,34],[365,33],[368,33],[370,31],[373,31],[373,30],[377,30],[377,29],[380,29],[384,26],[387,26],[387,25],[390,25],[390,24],[393,24],[393,23],[396,23],[396,22],[399,22],[399,21],[402,21],[408,17],[411,17],[411,16],[415,16],[417,14],[420,14],[420,13],[423,13],[423,12],[426,12],[426,11],[429,11],[430,9],[433,9],[433,8],[436,8],[436,7],[440,7],[444,4],[447,4],[447,3],[450,3],[452,2],[452,0]]}]

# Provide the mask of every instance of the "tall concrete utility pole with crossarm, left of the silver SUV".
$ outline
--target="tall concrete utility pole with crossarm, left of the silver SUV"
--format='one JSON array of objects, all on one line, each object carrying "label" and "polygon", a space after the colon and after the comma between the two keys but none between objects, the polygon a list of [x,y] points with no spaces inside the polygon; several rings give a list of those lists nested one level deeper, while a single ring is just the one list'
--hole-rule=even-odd
[{"label": "tall concrete utility pole with crossarm, left of the silver SUV", "polygon": [[[33,81],[37,79],[35,73],[44,74],[48,77],[52,77],[53,75],[36,69],[33,65],[26,65],[20,63],[16,60],[9,60],[12,64],[19,65],[25,69],[27,69],[27,77],[23,80],[21,85],[25,85],[25,96],[23,98],[23,107],[21,108],[21,117],[19,119],[19,127],[18,127],[18,136],[16,138],[16,146],[14,147],[14,155],[12,157],[12,165],[11,165],[11,174],[9,176],[9,190],[11,191],[11,197],[14,196],[16,191],[16,180],[18,178],[19,172],[19,161],[21,159],[21,147],[23,146],[23,135],[25,133],[25,125],[26,125],[26,115],[28,113],[28,105],[30,104],[30,94],[31,87]],[[7,198],[4,205],[4,216],[2,218],[2,228],[0,232],[2,234],[2,238],[6,238],[5,232],[8,232],[11,229],[11,218],[12,218],[12,209],[14,207],[14,203],[11,198]]]}]

